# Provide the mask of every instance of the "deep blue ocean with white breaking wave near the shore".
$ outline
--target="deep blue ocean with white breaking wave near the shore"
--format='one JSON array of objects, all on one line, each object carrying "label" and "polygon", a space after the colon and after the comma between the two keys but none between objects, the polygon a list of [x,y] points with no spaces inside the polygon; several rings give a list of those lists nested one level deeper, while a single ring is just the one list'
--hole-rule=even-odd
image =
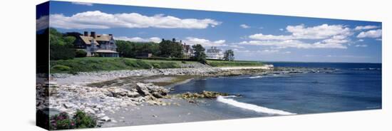
[{"label": "deep blue ocean with white breaking wave near the shore", "polygon": [[271,63],[274,67],[332,68],[332,73],[197,78],[172,93],[202,90],[218,97],[206,110],[239,117],[295,115],[382,108],[381,63]]}]

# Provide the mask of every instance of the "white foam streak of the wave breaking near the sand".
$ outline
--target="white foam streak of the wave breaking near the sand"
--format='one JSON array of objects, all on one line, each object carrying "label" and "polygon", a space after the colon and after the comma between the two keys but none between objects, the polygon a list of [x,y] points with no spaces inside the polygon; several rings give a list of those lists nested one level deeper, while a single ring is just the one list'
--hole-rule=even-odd
[{"label": "white foam streak of the wave breaking near the sand", "polygon": [[267,113],[267,114],[271,114],[271,115],[296,115],[296,113],[286,112],[283,110],[275,110],[275,109],[264,108],[264,107],[261,107],[258,105],[241,103],[236,100],[227,99],[226,97],[223,97],[223,96],[218,96],[217,101],[219,101],[220,103],[226,103],[228,105],[233,105],[237,108],[253,110],[255,112],[262,112],[262,113]]}]

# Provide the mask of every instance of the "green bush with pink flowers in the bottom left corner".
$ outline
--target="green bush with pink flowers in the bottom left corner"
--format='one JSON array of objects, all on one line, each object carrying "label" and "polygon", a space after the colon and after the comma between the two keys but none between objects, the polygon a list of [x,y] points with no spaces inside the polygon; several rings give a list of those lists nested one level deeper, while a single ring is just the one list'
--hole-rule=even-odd
[{"label": "green bush with pink flowers in the bottom left corner", "polygon": [[78,110],[72,118],[67,112],[53,115],[50,120],[50,130],[64,130],[74,128],[96,127],[96,118]]}]

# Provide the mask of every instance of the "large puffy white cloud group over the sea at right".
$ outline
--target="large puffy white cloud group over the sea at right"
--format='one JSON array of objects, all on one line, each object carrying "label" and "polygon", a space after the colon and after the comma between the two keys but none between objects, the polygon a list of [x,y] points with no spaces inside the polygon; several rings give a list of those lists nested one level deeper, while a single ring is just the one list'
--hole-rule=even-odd
[{"label": "large puffy white cloud group over the sea at right", "polygon": [[[350,28],[342,25],[322,24],[320,26],[306,27],[287,26],[289,35],[264,35],[256,33],[249,38],[257,41],[243,41],[239,44],[274,46],[274,48],[347,48],[348,37],[353,33]],[[283,29],[282,29],[283,30]],[[314,43],[306,43],[303,40],[317,40]]]}]

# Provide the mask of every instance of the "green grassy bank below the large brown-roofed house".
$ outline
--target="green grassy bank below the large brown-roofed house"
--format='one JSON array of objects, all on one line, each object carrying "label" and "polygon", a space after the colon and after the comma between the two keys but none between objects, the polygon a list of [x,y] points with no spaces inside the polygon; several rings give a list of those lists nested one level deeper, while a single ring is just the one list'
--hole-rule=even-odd
[{"label": "green grassy bank below the large brown-roofed house", "polygon": [[[137,70],[150,68],[180,68],[181,61],[152,61],[134,58],[73,58],[51,61],[51,73],[77,73],[98,70]],[[187,61],[190,63],[190,61]]]}]

